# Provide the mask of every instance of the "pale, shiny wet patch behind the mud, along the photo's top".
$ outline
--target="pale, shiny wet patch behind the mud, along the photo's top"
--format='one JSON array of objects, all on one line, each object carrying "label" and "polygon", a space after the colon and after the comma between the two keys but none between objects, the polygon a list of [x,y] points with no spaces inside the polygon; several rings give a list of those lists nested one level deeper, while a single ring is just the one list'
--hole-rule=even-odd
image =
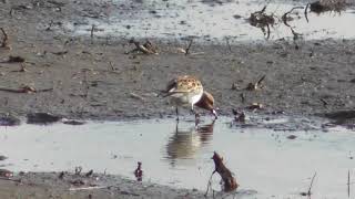
[{"label": "pale, shiny wet patch behind the mud, along the photo's top", "polygon": [[[273,25],[251,25],[250,17],[266,7]],[[99,11],[84,10],[80,22],[67,22],[74,35],[159,38],[225,42],[247,40],[349,39],[355,29],[351,6],[328,12],[314,12],[315,6],[304,1],[108,1]],[[294,9],[297,8],[297,9]],[[307,8],[307,9],[306,9]],[[305,13],[306,10],[306,13]],[[285,18],[284,18],[285,17]],[[287,19],[287,24],[284,24]],[[253,24],[253,23],[252,23]],[[260,23],[257,23],[260,24]]]}]

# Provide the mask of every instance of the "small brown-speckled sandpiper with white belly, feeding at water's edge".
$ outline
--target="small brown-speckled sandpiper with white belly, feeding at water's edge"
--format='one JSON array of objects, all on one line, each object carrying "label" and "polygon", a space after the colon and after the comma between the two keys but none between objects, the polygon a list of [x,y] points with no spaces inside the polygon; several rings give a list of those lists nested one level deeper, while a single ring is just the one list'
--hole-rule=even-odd
[{"label": "small brown-speckled sandpiper with white belly, feeding at water's edge", "polygon": [[[163,91],[163,96],[170,96],[171,103],[176,106],[176,121],[179,121],[179,106],[190,106],[191,112],[195,114],[194,105],[210,111],[217,118],[213,96],[203,91],[201,82],[194,76],[183,75],[173,78]],[[197,114],[195,117],[197,118]]]}]

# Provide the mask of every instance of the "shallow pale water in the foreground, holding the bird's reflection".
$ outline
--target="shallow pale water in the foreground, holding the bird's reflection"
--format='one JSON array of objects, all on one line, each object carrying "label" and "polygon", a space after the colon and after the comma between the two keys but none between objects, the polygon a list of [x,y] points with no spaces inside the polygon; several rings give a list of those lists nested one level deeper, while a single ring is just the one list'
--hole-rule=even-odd
[{"label": "shallow pale water in the foreground, holding the bird's reflection", "polygon": [[[267,125],[284,126],[290,119],[271,119]],[[263,198],[301,197],[315,171],[312,198],[347,197],[348,170],[354,178],[354,132],[342,127],[324,130],[307,119],[303,123],[313,130],[231,127],[226,117],[204,122],[197,128],[192,122],[180,122],[178,132],[174,119],[89,122],[81,126],[22,124],[0,127],[0,155],[9,157],[1,161],[2,167],[13,171],[73,171],[81,166],[83,171],[132,179],[136,163],[142,161],[143,181],[205,190],[215,150],[235,172],[239,189],[256,190]],[[290,135],[296,137],[290,139]],[[216,175],[214,188],[217,184]]]}]

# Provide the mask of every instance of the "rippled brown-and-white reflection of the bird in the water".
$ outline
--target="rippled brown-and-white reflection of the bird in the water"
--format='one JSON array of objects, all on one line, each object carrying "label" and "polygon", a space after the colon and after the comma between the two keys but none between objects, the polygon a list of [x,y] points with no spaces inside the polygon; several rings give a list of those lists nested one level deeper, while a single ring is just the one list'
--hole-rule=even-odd
[{"label": "rippled brown-and-white reflection of the bird in the water", "polygon": [[166,158],[170,164],[172,166],[175,166],[176,163],[184,165],[189,163],[184,160],[194,159],[195,154],[211,142],[214,122],[189,129],[180,129],[179,123],[176,123],[175,132],[166,145]]}]

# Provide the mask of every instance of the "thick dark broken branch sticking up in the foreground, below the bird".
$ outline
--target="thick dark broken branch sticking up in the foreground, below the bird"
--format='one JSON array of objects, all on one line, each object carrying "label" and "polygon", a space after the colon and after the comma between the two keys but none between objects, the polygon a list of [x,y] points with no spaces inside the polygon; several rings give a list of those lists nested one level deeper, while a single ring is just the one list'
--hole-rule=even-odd
[{"label": "thick dark broken branch sticking up in the foreground, below the bird", "polygon": [[236,182],[235,178],[233,177],[231,170],[229,168],[226,168],[225,165],[223,164],[223,158],[217,153],[214,151],[212,159],[214,161],[215,169],[212,172],[211,178],[209,180],[209,186],[207,186],[207,190],[205,192],[205,196],[207,196],[207,193],[209,193],[209,189],[211,187],[211,179],[215,172],[219,172],[219,175],[222,178],[222,181],[224,185],[224,187],[223,187],[224,191],[229,192],[229,191],[235,190],[239,187],[239,184]]}]

